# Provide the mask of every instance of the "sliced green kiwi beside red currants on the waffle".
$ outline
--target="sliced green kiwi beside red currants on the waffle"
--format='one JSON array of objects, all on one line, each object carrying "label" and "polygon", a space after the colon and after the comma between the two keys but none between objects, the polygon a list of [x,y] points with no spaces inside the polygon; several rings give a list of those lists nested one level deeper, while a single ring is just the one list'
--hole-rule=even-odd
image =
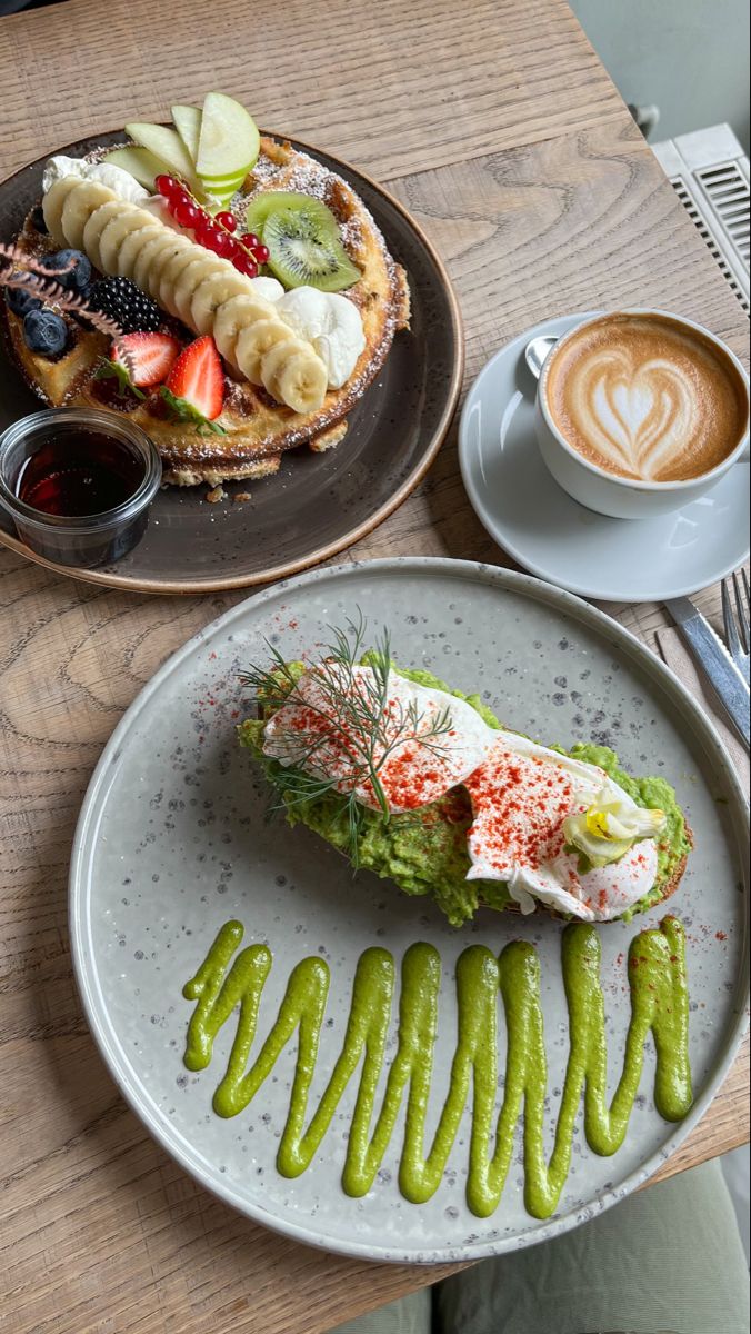
[{"label": "sliced green kiwi beside red currants on the waffle", "polygon": [[268,267],[284,287],[340,292],[363,276],[339,240],[333,213],[312,195],[265,191],[252,200],[245,227],[268,247]]}]

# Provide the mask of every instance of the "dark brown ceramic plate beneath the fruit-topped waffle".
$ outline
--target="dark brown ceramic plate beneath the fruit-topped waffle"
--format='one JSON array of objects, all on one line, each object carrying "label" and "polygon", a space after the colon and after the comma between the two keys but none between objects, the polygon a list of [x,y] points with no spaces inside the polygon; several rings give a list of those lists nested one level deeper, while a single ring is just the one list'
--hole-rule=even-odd
[{"label": "dark brown ceramic plate beneath the fruit-topped waffle", "polygon": [[[80,157],[123,132],[96,135],[57,152]],[[398,334],[376,380],[349,414],[343,443],[328,454],[284,455],[279,472],[227,483],[227,499],[207,504],[208,487],[168,487],[155,500],[148,531],[116,566],[49,566],[88,583],[143,592],[213,592],[280,579],[357,542],[418,486],[448,430],[464,360],[462,319],[448,275],[412,217],[380,185],[347,163],[297,143],[360,195],[407,271],[412,327]],[[11,240],[41,193],[49,155],[0,183],[0,240]],[[39,410],[39,399],[0,352],[0,430]],[[233,491],[249,491],[236,503]],[[0,543],[49,564],[19,542],[0,518]]]}]

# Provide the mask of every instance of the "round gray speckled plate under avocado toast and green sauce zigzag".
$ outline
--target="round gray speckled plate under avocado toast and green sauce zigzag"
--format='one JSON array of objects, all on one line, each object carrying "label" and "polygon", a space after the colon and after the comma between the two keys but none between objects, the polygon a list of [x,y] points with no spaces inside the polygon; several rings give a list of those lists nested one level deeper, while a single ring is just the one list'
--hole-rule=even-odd
[{"label": "round gray speckled plate under avocado toast and green sauce zigzag", "polygon": [[[451,930],[424,899],[410,899],[307,830],[267,823],[267,792],[233,736],[244,694],[237,674],[264,658],[264,636],[285,658],[309,650],[360,607],[372,634],[388,626],[398,662],[426,666],[463,691],[479,690],[510,726],[543,740],[614,744],[636,774],[664,774],[696,847],[671,910],[687,930],[691,1063],[696,1102],[679,1126],[652,1099],[648,1045],[640,1095],[623,1147],[599,1158],[579,1125],[556,1215],[532,1219],[522,1198],[520,1142],[503,1198],[488,1219],[467,1209],[467,1117],[444,1181],[410,1205],[396,1175],[400,1125],[367,1197],[340,1187],[353,1087],[312,1166],[277,1174],[293,1050],[280,1058],[244,1113],[211,1109],[233,1023],[212,1063],[188,1074],[181,1057],[192,1003],[185,980],[224,922],[245,943],[264,940],[273,967],[261,1000],[268,1031],[295,963],[331,968],[327,1019],[311,1106],[340,1049],[359,955],[368,946],[399,962],[415,940],[440,951],[444,978],[428,1135],[447,1087],[455,1043],[454,966],[470,943],[494,951],[514,938],[539,950],[550,1059],[548,1147],[567,1055],[562,924],[483,911]],[[747,816],[730,762],[678,680],[612,620],[526,575],[463,562],[404,559],[317,571],[257,594],[192,639],[156,674],[109,740],[87,794],[71,871],[73,956],[89,1023],[124,1095],[160,1143],[203,1185],[259,1222],[328,1250],[373,1259],[472,1259],[527,1246],[606,1209],[644,1181],[706,1111],[744,1029],[748,974]],[[600,927],[611,1091],[630,1017],[624,951],[636,923]],[[502,1038],[503,1046],[503,1038]],[[502,1051],[503,1059],[503,1051]],[[356,1082],[355,1082],[356,1083]]]}]

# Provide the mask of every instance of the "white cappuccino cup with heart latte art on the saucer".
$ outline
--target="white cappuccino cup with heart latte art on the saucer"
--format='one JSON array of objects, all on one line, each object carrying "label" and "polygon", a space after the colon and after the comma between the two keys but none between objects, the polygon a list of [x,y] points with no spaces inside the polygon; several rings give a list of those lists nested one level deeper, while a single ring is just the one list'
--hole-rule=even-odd
[{"label": "white cappuccino cup with heart latte art on the saucer", "polygon": [[543,363],[535,431],[558,484],[588,510],[668,514],[748,458],[748,376],[692,320],[654,309],[591,316]]}]

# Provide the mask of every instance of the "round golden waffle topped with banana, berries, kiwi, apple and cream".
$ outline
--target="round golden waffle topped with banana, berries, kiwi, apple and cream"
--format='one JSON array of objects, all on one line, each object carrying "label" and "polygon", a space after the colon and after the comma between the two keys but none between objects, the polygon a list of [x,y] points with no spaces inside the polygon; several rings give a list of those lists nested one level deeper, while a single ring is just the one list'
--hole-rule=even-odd
[{"label": "round golden waffle topped with banana, berries, kiwi, apple and cream", "polygon": [[336,444],[410,293],[340,176],[223,93],[172,117],[49,160],[12,251],[7,335],[48,404],[127,412],[165,482],[213,487]]}]

